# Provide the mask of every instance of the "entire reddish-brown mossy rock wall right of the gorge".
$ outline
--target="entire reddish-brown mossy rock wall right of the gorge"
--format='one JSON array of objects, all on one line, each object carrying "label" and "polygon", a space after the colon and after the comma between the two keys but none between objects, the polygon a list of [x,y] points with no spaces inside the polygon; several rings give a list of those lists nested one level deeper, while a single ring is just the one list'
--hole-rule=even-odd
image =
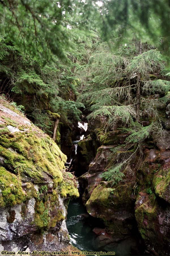
[{"label": "entire reddish-brown mossy rock wall right of the gorge", "polygon": [[[104,127],[104,121],[102,125]],[[95,230],[98,232],[96,239],[106,250],[111,246],[121,251],[119,245],[126,244],[127,250],[131,251],[129,248],[137,244],[133,240],[134,234],[139,232],[139,237],[146,246],[143,247],[146,254],[169,255],[169,131],[165,130],[164,135],[157,139],[156,148],[153,148],[152,141],[145,142],[142,161],[138,155],[133,155],[133,148],[126,151],[118,146],[124,143],[128,133],[121,137],[116,130],[104,132],[99,127],[91,131],[91,136],[101,146],[98,147],[88,172],[78,180],[88,213],[102,219],[106,225],[104,231]],[[123,180],[113,185],[111,181],[102,179],[103,172],[121,163],[122,159],[129,159],[128,164],[120,170],[124,173]]]}]

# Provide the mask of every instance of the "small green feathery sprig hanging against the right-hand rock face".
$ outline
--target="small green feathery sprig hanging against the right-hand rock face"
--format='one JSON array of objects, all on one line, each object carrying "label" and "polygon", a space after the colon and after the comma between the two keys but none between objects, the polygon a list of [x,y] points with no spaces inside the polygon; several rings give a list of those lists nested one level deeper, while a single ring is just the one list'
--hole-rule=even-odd
[{"label": "small green feathery sprig hanging against the right-hand rock face", "polygon": [[124,174],[120,171],[123,164],[109,168],[106,172],[103,172],[101,177],[107,181],[112,181],[112,185],[117,185],[123,180]]}]

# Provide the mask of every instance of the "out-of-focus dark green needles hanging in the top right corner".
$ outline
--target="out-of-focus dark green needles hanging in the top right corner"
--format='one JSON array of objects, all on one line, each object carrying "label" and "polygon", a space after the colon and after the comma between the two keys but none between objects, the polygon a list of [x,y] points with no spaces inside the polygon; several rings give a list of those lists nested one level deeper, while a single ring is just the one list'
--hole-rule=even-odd
[{"label": "out-of-focus dark green needles hanging in the top right corner", "polygon": [[[169,46],[169,1],[104,1],[101,7],[101,28],[105,40],[118,38],[126,42],[128,37],[135,37],[144,42],[149,40],[157,43],[163,38],[163,49],[168,51]],[[159,17],[159,18],[158,18]]]}]

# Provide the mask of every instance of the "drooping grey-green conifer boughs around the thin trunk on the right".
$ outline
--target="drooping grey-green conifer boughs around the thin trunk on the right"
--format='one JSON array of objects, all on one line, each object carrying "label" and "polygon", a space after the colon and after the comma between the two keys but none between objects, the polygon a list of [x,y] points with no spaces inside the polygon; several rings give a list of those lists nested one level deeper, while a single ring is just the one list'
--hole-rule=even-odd
[{"label": "drooping grey-green conifer boughs around the thin trunk on the right", "polygon": [[[114,44],[111,42],[112,46]],[[105,43],[99,42],[92,51],[88,64],[85,65],[84,71],[88,71],[88,80],[78,100],[82,101],[92,112],[88,119],[95,118],[97,115],[108,116],[107,129],[114,129],[118,121],[122,121],[124,125],[134,126],[137,106],[137,73],[140,73],[140,87],[144,94],[167,94],[169,90],[169,81],[148,80],[150,73],[164,69],[163,55],[149,44],[146,47],[143,46],[143,53],[139,55],[138,47],[139,42],[131,40],[126,46],[120,45],[112,53]],[[105,58],[108,60],[106,61]],[[168,96],[165,98],[160,99],[159,102],[147,101],[143,98],[141,105],[143,114],[148,116],[148,119],[154,117],[155,121],[162,121],[158,109],[162,104],[161,101],[169,100]]]}]

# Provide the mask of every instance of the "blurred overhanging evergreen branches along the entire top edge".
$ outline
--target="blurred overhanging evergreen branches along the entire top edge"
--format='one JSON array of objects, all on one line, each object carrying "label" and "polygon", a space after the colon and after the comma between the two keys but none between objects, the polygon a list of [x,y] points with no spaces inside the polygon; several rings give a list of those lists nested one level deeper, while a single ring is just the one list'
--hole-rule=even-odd
[{"label": "blurred overhanging evergreen branches along the entire top edge", "polygon": [[1,0],[0,40],[41,62],[65,59],[76,44],[96,37],[150,40],[169,47],[169,0]]}]

